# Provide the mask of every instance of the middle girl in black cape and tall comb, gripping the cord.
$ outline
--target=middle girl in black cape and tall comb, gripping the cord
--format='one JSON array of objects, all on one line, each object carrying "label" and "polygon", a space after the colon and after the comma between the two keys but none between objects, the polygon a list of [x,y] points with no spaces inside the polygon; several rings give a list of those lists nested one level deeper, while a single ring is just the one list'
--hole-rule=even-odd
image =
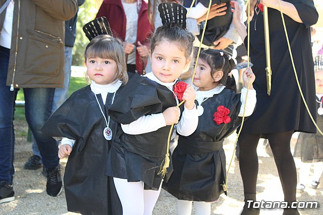
[{"label": "middle girl in black cape and tall comb, gripping the cord", "polygon": [[[197,127],[195,91],[187,87],[184,111],[176,107],[181,96],[173,87],[190,63],[193,35],[185,29],[186,10],[175,3],[158,7],[163,26],[151,38],[152,72],[134,76],[115,99],[109,113],[120,123],[120,138],[113,142],[107,158],[108,176],[114,182],[124,214],[151,214],[160,193],[171,125],[188,136]],[[180,118],[180,120],[179,120]],[[168,154],[167,154],[168,155]],[[172,164],[167,168],[172,173]]]}]

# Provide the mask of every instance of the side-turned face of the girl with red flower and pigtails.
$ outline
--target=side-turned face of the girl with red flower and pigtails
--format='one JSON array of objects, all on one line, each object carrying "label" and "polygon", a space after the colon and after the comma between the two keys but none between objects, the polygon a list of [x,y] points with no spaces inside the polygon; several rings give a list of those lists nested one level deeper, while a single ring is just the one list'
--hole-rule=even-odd
[{"label": "side-turned face of the girl with red flower and pigtails", "polygon": [[200,91],[210,90],[217,86],[217,83],[214,82],[214,79],[211,76],[210,66],[201,59],[198,59],[197,61],[193,84],[198,87]]}]

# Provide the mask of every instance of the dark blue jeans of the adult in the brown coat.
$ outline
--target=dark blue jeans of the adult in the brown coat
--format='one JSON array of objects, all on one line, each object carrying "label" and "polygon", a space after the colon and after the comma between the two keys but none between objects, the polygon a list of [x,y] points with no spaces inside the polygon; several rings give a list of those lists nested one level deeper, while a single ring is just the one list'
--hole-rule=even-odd
[{"label": "dark blue jeans of the adult in the brown coat", "polygon": [[[14,162],[14,112],[17,91],[6,86],[10,49],[0,46],[0,181],[12,183]],[[19,72],[19,71],[16,71]],[[58,147],[55,139],[40,132],[51,114],[55,88],[24,88],[25,116],[36,139],[45,168],[59,165]]]}]

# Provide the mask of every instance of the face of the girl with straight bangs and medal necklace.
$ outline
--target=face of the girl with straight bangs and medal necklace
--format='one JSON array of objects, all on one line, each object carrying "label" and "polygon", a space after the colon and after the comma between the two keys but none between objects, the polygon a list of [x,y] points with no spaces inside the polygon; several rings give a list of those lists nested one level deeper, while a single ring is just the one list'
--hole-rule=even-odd
[{"label": "face of the girl with straight bangs and medal necklace", "polygon": [[109,84],[118,71],[117,63],[111,59],[86,59],[87,74],[97,84]]}]

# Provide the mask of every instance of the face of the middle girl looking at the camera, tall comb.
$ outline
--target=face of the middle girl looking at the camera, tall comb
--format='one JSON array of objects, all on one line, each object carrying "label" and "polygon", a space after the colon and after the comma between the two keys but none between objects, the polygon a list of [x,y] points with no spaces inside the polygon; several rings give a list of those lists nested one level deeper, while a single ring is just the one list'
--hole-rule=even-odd
[{"label": "face of the middle girl looking at the camera, tall comb", "polygon": [[174,82],[189,64],[185,51],[178,48],[176,43],[166,40],[155,46],[151,55],[151,70],[161,82]]}]

